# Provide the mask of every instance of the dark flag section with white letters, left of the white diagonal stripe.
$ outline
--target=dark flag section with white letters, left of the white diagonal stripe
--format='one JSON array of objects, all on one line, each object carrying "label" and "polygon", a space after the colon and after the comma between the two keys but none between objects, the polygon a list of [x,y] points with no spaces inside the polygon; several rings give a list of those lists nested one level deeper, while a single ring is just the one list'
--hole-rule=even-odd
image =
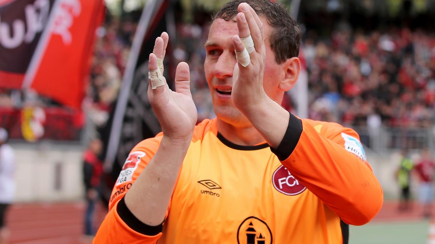
[{"label": "dark flag section with white letters, left of the white diagonal stripe", "polygon": [[0,87],[20,89],[54,0],[0,1]]}]

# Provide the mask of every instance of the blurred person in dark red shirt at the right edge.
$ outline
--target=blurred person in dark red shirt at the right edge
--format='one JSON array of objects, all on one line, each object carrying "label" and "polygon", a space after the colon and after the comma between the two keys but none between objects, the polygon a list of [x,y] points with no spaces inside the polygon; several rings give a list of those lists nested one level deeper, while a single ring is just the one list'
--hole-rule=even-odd
[{"label": "blurred person in dark red shirt at the right edge", "polygon": [[418,200],[423,205],[423,215],[431,216],[431,208],[434,193],[435,161],[428,148],[422,151],[422,156],[415,165],[415,171],[420,176],[418,187]]}]

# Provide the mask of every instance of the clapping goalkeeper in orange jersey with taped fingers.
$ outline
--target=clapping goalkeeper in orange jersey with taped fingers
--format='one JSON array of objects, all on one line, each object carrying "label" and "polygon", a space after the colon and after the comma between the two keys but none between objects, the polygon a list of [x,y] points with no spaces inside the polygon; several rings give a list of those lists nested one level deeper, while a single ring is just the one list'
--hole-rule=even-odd
[{"label": "clapping goalkeeper in orange jersey with taped fingers", "polygon": [[358,134],[280,106],[300,39],[279,3],[226,3],[205,43],[217,118],[195,126],[189,67],[177,66],[171,91],[158,37],[148,97],[163,132],[131,151],[94,243],[337,244],[347,224],[370,221],[383,193]]}]

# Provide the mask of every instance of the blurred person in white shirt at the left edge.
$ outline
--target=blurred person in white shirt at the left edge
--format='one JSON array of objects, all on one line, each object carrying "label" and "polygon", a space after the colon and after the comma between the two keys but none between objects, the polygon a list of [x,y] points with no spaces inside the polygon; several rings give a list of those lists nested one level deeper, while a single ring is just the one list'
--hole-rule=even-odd
[{"label": "blurred person in white shirt at the left edge", "polygon": [[9,232],[5,225],[7,208],[13,202],[15,184],[13,172],[15,169],[14,153],[7,142],[8,134],[0,128],[0,244],[7,243]]}]

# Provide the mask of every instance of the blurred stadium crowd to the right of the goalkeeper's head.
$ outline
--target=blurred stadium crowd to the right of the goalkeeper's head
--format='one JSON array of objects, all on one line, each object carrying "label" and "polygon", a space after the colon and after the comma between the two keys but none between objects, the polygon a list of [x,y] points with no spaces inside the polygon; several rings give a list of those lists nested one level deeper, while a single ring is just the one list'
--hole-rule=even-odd
[{"label": "blurred stadium crowd to the right of the goalkeeper's head", "polygon": [[327,39],[307,36],[312,119],[370,127],[434,123],[434,33],[341,28]]}]

